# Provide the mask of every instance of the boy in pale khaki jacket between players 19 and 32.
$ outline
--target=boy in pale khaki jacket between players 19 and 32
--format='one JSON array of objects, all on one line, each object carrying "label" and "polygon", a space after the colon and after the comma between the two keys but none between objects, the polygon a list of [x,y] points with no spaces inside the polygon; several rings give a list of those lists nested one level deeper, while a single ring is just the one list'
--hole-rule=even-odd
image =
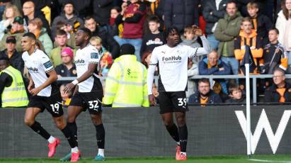
[{"label": "boy in pale khaki jacket between players 19 and 32", "polygon": [[[54,67],[57,67],[57,65],[62,64],[62,50],[65,47],[70,47],[67,45],[67,33],[64,30],[57,30],[57,36],[55,37],[55,42],[57,43],[57,47],[50,50],[50,60],[52,61],[52,64],[54,64]],[[70,47],[70,49],[73,49],[73,47]],[[76,54],[76,50],[74,50],[74,55]]]}]

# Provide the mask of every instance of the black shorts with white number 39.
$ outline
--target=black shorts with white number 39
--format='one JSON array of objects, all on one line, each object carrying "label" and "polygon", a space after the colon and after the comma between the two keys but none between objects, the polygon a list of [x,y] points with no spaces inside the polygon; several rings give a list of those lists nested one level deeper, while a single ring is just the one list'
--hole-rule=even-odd
[{"label": "black shorts with white number 39", "polygon": [[159,91],[160,114],[188,111],[185,91]]}]

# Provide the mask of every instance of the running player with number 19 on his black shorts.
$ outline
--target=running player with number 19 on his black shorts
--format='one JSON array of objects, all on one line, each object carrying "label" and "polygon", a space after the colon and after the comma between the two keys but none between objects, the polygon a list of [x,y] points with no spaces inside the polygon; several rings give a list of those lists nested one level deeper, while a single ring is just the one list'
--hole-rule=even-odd
[{"label": "running player with number 19 on his black shorts", "polygon": [[60,141],[57,137],[53,137],[50,133],[42,128],[42,125],[35,120],[38,113],[47,111],[52,115],[57,128],[62,130],[65,137],[69,141],[69,145],[74,146],[76,140],[69,127],[66,125],[62,110],[62,97],[55,84],[57,80],[57,73],[52,67],[52,62],[45,52],[35,48],[35,35],[33,33],[25,33],[21,39],[21,46],[23,47],[23,61],[25,67],[28,67],[30,74],[30,81],[28,91],[31,94],[28,108],[25,111],[24,122],[31,129],[44,137],[49,142],[48,157],[53,157],[55,148],[59,145]]}]

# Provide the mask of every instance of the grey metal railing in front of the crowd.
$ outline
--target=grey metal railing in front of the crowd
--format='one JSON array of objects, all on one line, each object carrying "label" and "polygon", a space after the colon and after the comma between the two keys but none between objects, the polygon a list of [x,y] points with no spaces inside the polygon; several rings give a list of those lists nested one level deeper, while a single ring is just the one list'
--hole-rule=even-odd
[{"label": "grey metal railing in front of the crowd", "polygon": [[[291,74],[285,74],[286,79],[291,79]],[[260,79],[268,79],[268,78],[272,78],[273,75],[272,74],[251,74],[250,75],[250,79],[253,82],[253,88],[252,88],[252,93],[253,93],[253,103],[257,103],[258,99],[257,99],[257,80]],[[230,75],[196,75],[193,77],[190,77],[189,79],[201,79],[201,78],[207,78],[210,80],[210,85],[213,84],[213,81],[215,79],[244,79],[245,76],[244,75],[235,75],[235,74],[230,74]],[[76,77],[60,77],[59,79],[57,79],[58,81],[73,81],[74,79],[76,79]],[[100,77],[101,80],[105,80],[106,77]],[[156,86],[158,86],[158,79],[159,77],[156,76],[154,77],[154,83],[156,84]]]}]

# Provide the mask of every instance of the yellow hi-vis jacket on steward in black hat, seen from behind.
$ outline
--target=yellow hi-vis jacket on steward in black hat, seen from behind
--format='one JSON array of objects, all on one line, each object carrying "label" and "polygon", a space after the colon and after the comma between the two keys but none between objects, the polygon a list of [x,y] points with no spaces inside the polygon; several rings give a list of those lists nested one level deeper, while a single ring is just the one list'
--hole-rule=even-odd
[{"label": "yellow hi-vis jacket on steward in black hat, seen from behind", "polygon": [[105,81],[103,103],[112,107],[149,107],[147,68],[135,55],[115,59]]}]

